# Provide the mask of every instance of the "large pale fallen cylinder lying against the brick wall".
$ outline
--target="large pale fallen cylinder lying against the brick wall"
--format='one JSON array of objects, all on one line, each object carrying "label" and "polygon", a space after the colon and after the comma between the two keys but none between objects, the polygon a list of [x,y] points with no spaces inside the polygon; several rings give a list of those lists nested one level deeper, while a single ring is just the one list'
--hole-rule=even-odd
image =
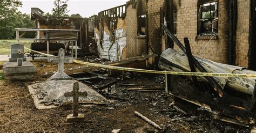
[{"label": "large pale fallen cylinder lying against the brick wall", "polygon": [[[204,58],[196,57],[196,60],[208,71],[214,73],[235,73],[235,74],[256,74],[255,71],[247,70],[241,67],[216,63]],[[175,49],[165,50],[159,61],[159,68],[167,71],[190,71],[190,65],[186,54]],[[196,69],[196,72],[200,72]],[[198,77],[199,80],[207,82],[205,77]],[[217,83],[221,86],[231,88],[235,91],[254,95],[254,86],[256,78],[233,78],[233,77],[214,77]]]}]

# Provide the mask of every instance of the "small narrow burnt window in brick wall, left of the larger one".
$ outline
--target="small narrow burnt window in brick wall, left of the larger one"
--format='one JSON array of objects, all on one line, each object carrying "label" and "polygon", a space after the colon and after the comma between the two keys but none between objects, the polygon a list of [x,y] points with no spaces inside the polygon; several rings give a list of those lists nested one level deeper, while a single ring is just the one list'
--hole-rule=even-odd
[{"label": "small narrow burnt window in brick wall, left of the larger one", "polygon": [[[137,36],[142,37],[142,38],[146,38],[146,14],[142,14],[140,16],[138,16],[138,32],[137,32]],[[144,20],[143,20],[144,19]],[[142,22],[144,21],[144,22]],[[144,23],[144,24],[142,24]],[[142,31],[142,28],[144,28]]]}]

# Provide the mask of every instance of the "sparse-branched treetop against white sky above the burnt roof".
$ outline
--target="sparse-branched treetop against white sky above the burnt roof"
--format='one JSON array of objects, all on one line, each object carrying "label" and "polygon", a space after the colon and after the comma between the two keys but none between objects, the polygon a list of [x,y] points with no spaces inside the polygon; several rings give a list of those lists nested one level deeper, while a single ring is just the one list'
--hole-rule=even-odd
[{"label": "sparse-branched treetop against white sky above the burnt roof", "polygon": [[53,2],[55,8],[52,9],[52,16],[54,17],[68,17],[68,0],[55,0]]}]

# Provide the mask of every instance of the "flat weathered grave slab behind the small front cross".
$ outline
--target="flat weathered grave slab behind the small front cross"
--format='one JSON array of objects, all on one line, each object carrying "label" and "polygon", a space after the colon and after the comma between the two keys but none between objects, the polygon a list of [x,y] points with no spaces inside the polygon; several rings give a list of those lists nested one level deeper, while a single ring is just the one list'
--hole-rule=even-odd
[{"label": "flat weathered grave slab behind the small front cross", "polygon": [[[73,97],[64,97],[64,93],[72,92],[75,82],[76,80],[48,80],[29,85],[28,88],[37,109],[54,108],[63,103],[73,103]],[[86,91],[88,94],[86,97],[79,97],[80,104],[109,104],[109,100],[80,82],[79,91]]]}]

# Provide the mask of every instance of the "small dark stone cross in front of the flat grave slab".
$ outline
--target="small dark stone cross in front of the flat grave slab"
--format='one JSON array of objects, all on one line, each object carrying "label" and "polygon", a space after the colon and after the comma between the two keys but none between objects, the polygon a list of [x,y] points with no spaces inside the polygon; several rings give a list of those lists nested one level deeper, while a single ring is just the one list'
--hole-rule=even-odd
[{"label": "small dark stone cross in front of the flat grave slab", "polygon": [[79,92],[78,82],[73,84],[73,91],[64,93],[65,97],[73,97],[73,114],[67,116],[67,122],[83,122],[84,114],[78,114],[78,98],[86,97],[87,92]]}]

